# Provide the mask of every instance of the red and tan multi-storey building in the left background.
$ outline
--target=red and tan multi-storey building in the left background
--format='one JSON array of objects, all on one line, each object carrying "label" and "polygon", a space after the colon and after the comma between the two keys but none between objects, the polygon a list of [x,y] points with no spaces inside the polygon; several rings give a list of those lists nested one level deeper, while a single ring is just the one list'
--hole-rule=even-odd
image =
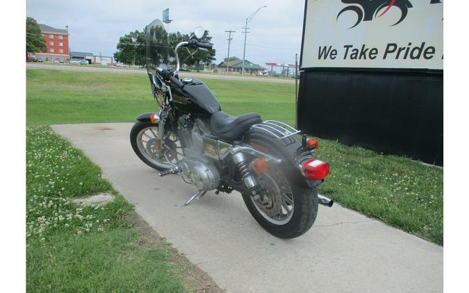
[{"label": "red and tan multi-storey building in the left background", "polygon": [[46,39],[47,50],[35,53],[38,58],[44,61],[67,60],[69,59],[69,35],[66,29],[53,28],[45,24],[39,24],[41,33]]}]

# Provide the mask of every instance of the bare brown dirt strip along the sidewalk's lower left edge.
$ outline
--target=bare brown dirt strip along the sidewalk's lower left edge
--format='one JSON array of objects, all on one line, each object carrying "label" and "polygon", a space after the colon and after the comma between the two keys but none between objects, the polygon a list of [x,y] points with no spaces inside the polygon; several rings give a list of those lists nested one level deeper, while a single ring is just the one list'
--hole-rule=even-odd
[{"label": "bare brown dirt strip along the sidewalk's lower left edge", "polygon": [[[154,248],[155,246],[168,246],[165,241],[165,238],[161,237],[154,231],[149,224],[142,219],[136,212],[129,212],[124,216],[126,221],[130,221],[134,227],[140,233],[140,240],[138,240],[138,245],[143,246],[147,249]],[[225,292],[222,288],[212,280],[211,276],[205,271],[202,271],[199,267],[192,264],[186,256],[182,253],[176,253],[174,256],[173,262],[187,267],[187,274],[184,276],[184,282],[186,285],[196,293],[220,293]]]}]

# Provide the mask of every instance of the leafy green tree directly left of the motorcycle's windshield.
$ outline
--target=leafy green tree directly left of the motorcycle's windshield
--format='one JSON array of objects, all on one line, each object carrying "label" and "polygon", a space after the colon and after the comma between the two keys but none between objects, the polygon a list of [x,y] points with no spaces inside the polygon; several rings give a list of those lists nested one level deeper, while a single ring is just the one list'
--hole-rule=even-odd
[{"label": "leafy green tree directly left of the motorcycle's windshield", "polygon": [[117,62],[128,65],[145,65],[145,30],[133,31],[120,37],[114,58]]}]

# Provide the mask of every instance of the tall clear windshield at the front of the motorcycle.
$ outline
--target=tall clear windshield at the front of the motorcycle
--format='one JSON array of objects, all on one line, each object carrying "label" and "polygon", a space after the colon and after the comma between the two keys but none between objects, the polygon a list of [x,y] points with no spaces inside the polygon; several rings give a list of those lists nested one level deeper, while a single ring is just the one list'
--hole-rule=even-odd
[{"label": "tall clear windshield at the front of the motorcycle", "polygon": [[170,47],[165,26],[160,19],[155,19],[146,28],[147,35],[147,71],[156,73],[156,67],[174,69],[174,50]]}]

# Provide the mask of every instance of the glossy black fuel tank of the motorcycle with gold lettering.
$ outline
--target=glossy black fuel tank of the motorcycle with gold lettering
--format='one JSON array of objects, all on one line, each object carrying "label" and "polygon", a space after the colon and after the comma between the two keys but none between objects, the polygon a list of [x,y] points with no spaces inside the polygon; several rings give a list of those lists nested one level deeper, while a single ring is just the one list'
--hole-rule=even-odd
[{"label": "glossy black fuel tank of the motorcycle with gold lettering", "polygon": [[183,78],[184,87],[171,87],[174,106],[181,112],[210,116],[222,110],[215,95],[196,78]]}]

